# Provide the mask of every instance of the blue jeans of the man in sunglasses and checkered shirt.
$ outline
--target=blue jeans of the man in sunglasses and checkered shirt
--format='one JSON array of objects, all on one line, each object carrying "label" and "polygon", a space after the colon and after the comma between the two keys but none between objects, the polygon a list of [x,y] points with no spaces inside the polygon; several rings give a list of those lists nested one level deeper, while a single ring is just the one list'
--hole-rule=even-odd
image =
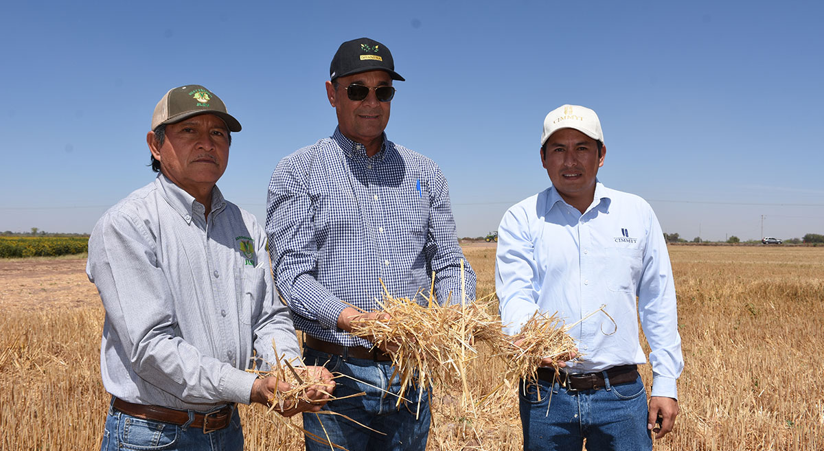
[{"label": "blue jeans of the man in sunglasses and checkered shirt", "polygon": [[[354,379],[383,388],[391,393],[398,393],[400,382],[397,377],[387,382],[392,375],[390,362],[374,362],[372,360],[355,359],[349,356],[335,356],[316,351],[310,347],[303,348],[303,360],[307,365],[325,365],[333,374],[351,376]],[[407,389],[406,404],[400,408],[395,404],[398,398],[383,393],[380,389],[361,384],[347,377],[335,379],[335,398],[341,398],[355,393],[366,392],[365,396],[340,399],[328,402],[324,411],[335,411],[349,416],[354,421],[368,425],[386,435],[368,430],[356,425],[343,416],[325,413],[304,413],[303,427],[314,435],[326,439],[329,436],[333,444],[343,446],[349,451],[377,449],[380,451],[424,451],[426,439],[429,435],[429,390],[424,390],[421,397],[419,418],[415,419],[418,410],[418,387],[414,385]],[[322,422],[322,426],[321,426]],[[306,438],[307,451],[329,450],[328,444],[318,443],[309,436]]]}]

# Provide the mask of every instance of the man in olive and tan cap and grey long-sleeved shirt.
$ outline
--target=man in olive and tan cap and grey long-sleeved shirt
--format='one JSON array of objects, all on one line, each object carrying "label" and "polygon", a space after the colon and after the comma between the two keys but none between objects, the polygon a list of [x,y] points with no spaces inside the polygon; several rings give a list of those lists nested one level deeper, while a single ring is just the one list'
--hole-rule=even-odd
[{"label": "man in olive and tan cap and grey long-sleeved shirt", "polygon": [[[243,449],[236,403],[268,404],[275,378],[246,372],[298,363],[288,309],[275,298],[264,230],[216,183],[241,124],[204,86],[157,103],[146,141],[151,184],[105,212],[89,239],[87,274],[105,308],[101,374],[112,401],[101,449]],[[276,342],[276,355],[272,343]],[[331,374],[325,377],[329,392]],[[284,406],[319,410],[328,398]]]}]

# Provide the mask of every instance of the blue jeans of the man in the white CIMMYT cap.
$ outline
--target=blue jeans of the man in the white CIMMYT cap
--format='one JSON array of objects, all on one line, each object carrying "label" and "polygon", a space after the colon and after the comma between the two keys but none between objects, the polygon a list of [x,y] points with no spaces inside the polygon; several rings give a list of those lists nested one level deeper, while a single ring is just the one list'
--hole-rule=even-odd
[{"label": "blue jeans of the man in the white CIMMYT cap", "polygon": [[588,451],[653,449],[640,376],[620,385],[611,385],[607,378],[605,388],[579,392],[568,391],[557,382],[551,387],[549,382],[538,382],[525,388],[521,381],[519,387],[523,449],[581,451],[583,439],[587,439]]}]

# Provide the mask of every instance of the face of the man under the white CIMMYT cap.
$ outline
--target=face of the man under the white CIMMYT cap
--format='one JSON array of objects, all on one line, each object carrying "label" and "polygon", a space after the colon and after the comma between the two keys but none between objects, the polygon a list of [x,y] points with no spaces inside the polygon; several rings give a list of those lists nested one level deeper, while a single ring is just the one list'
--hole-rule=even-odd
[{"label": "face of the man under the white CIMMYT cap", "polygon": [[601,156],[598,156],[597,142],[574,128],[562,128],[552,133],[541,151],[546,173],[564,198],[592,195],[595,176],[598,168],[604,165],[605,156],[606,147],[602,147]]}]

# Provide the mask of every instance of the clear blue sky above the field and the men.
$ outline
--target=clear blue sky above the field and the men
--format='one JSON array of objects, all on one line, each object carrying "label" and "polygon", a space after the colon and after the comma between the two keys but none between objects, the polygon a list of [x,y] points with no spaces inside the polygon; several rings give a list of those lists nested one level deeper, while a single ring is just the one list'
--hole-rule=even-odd
[{"label": "clear blue sky above the field and the men", "polygon": [[[666,4],[665,4],[666,3]],[[7,2],[0,17],[0,230],[90,232],[147,184],[171,87],[243,124],[223,193],[263,221],[277,162],[329,136],[344,40],[391,49],[386,133],[450,183],[458,235],[550,185],[546,113],[602,120],[604,184],[686,239],[824,233],[821,2]],[[761,216],[765,216],[763,221]]]}]

